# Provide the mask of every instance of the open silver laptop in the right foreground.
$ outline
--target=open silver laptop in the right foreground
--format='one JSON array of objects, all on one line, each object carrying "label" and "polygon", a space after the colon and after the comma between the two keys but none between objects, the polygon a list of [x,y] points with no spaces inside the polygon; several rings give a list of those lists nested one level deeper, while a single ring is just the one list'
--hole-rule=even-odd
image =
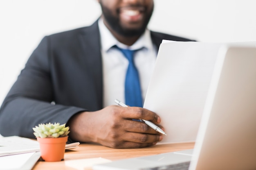
[{"label": "open silver laptop in the right foreground", "polygon": [[218,56],[194,149],[93,166],[93,170],[176,169],[256,169],[256,48],[231,46]]}]

